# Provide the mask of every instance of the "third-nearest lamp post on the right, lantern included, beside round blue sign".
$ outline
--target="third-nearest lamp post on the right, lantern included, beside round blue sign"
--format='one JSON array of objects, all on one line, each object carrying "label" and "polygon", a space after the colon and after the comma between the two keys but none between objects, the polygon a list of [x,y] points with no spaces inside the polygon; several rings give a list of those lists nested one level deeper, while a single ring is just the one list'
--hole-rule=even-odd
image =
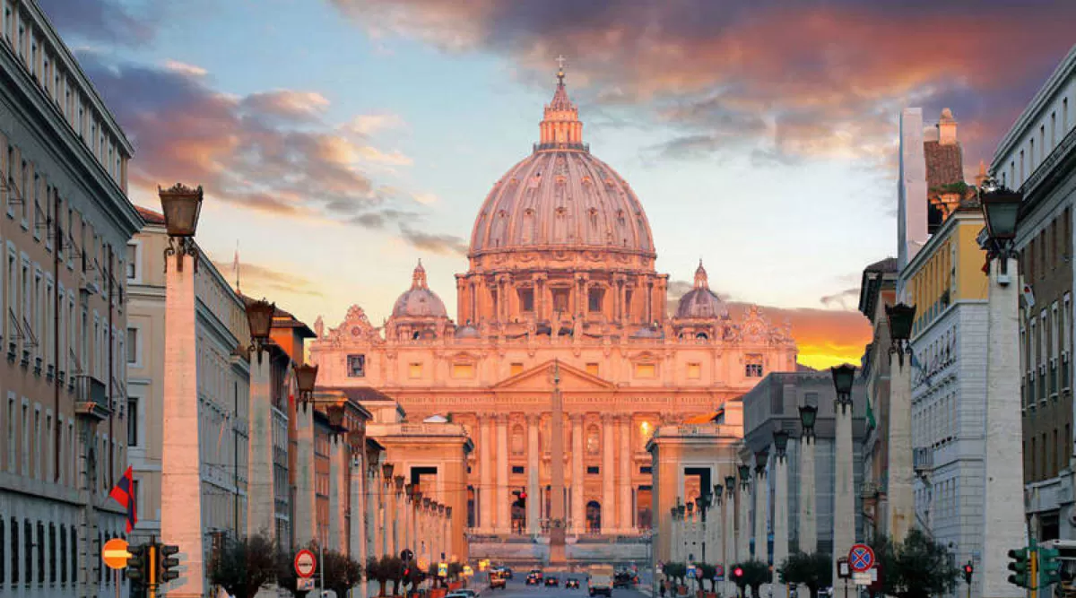
[{"label": "third-nearest lamp post on the right, lantern included, beside round blue sign", "polygon": [[[830,369],[836,419],[834,442],[834,501],[833,501],[833,579],[837,576],[837,558],[848,554],[855,542],[855,498],[853,486],[854,455],[852,453],[852,385],[855,382],[855,367],[848,364]],[[834,584],[834,598],[848,598],[846,587]]]}]

